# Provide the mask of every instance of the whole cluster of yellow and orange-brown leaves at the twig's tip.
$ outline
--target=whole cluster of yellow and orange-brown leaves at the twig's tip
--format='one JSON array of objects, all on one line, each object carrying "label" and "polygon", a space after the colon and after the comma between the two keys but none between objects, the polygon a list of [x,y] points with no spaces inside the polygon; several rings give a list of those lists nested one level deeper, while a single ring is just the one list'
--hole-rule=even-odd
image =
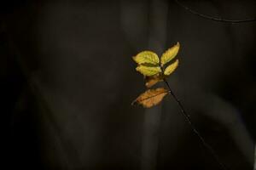
[{"label": "whole cluster of yellow and orange-brown leaves at the twig's tip", "polygon": [[[175,58],[178,50],[179,43],[177,42],[172,48],[167,49],[160,58],[152,51],[143,51],[132,57],[137,63],[136,70],[145,77],[145,85],[147,88],[151,88],[157,82],[163,81],[175,71],[178,65],[178,59],[168,66],[166,66],[166,64]],[[149,108],[159,104],[168,93],[169,91],[166,88],[148,89],[143,94],[140,94],[137,99],[132,102],[132,105],[143,105]]]}]

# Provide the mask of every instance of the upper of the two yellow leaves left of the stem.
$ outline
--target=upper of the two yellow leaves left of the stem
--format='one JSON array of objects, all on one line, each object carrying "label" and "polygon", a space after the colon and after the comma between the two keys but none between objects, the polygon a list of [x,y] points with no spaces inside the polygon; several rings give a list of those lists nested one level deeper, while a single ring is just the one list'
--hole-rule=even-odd
[{"label": "upper of the two yellow leaves left of the stem", "polygon": [[157,54],[151,51],[143,51],[136,56],[132,57],[132,59],[137,62],[138,65],[142,64],[153,64],[153,65],[159,65],[159,57]]}]

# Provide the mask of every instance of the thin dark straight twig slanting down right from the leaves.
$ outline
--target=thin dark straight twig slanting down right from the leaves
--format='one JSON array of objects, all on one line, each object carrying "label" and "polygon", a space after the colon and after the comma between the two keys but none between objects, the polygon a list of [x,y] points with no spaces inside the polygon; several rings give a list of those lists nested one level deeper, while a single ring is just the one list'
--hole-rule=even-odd
[{"label": "thin dark straight twig slanting down right from the leaves", "polygon": [[191,122],[189,114],[184,110],[184,107],[179,99],[177,99],[177,96],[173,93],[172,88],[170,88],[169,83],[164,79],[164,82],[166,83],[167,88],[170,91],[170,94],[172,97],[176,100],[177,105],[179,106],[183,116],[185,117],[186,121],[189,122],[190,127],[192,128],[193,132],[197,135],[197,137],[201,140],[201,143],[204,145],[204,147],[209,150],[209,152],[212,154],[212,156],[218,161],[219,166],[223,170],[227,170],[227,168],[224,166],[224,164],[218,159],[218,155],[215,153],[215,151],[212,149],[212,146],[210,144],[207,144],[206,140],[201,136],[201,133],[196,129],[195,125]]}]

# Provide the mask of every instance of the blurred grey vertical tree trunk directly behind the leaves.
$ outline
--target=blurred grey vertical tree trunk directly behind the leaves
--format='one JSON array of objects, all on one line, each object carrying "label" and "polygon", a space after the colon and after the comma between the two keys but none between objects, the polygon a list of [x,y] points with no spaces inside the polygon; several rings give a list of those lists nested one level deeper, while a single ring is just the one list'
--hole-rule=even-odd
[{"label": "blurred grey vertical tree trunk directly behind the leaves", "polygon": [[[161,54],[166,46],[168,4],[153,0],[148,14],[148,48]],[[160,143],[161,105],[145,110],[142,144],[142,169],[157,169]]]}]

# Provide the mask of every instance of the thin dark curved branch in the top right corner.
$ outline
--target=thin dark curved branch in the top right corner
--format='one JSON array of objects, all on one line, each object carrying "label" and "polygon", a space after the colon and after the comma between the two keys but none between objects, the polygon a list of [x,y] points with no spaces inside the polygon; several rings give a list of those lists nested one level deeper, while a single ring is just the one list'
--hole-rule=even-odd
[{"label": "thin dark curved branch in the top right corner", "polygon": [[207,19],[207,20],[214,20],[214,21],[219,21],[219,22],[229,22],[229,23],[233,23],[233,24],[256,21],[256,17],[248,18],[248,19],[245,19],[245,20],[228,20],[228,19],[224,19],[224,18],[216,18],[216,17],[210,16],[210,15],[207,15],[207,14],[201,14],[201,13],[199,13],[199,12],[189,8],[188,6],[184,5],[183,3],[181,3],[178,0],[175,0],[175,2],[179,6],[181,6],[182,8],[186,9],[187,11],[189,11],[189,13],[195,14],[195,15],[200,16],[200,17],[202,17],[204,19]]}]

